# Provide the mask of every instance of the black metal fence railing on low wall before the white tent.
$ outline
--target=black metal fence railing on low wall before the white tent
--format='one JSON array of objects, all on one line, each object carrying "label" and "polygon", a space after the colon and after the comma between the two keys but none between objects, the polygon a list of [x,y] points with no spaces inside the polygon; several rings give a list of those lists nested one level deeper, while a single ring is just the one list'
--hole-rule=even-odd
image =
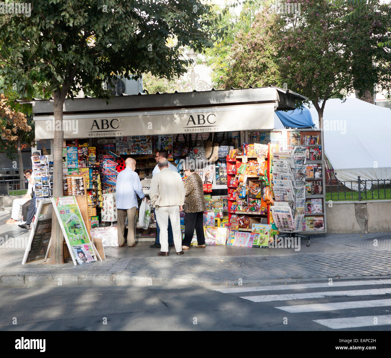
[{"label": "black metal fence railing on low wall before the white tent", "polygon": [[391,199],[390,187],[390,179],[362,180],[358,176],[355,181],[334,180],[326,184],[326,201]]}]

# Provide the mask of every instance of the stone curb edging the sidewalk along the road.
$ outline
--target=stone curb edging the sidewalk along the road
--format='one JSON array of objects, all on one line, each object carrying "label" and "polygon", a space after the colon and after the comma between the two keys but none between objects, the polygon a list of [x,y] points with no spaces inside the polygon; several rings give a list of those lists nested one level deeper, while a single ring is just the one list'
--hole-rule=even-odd
[{"label": "stone curb edging the sidewalk along the road", "polygon": [[[243,286],[250,285],[265,285],[275,283],[302,283],[311,281],[328,280],[329,276],[319,276],[314,278],[279,278],[269,280],[246,280]],[[384,276],[361,276],[361,277],[332,277],[338,281],[352,280],[373,280],[387,279],[390,275]],[[221,287],[238,285],[237,280],[220,280],[220,281],[201,281],[197,278],[165,278],[165,277],[144,277],[131,276],[121,273],[109,274],[5,274],[0,276],[1,288],[17,288],[17,287],[48,287],[48,286],[198,286],[198,287]]]}]

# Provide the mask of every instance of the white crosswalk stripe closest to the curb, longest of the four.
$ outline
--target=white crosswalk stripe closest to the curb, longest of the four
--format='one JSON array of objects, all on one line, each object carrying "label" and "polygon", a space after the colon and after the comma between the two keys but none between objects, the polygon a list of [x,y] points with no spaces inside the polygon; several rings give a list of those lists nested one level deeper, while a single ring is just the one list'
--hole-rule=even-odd
[{"label": "white crosswalk stripe closest to the curb, longest of the four", "polygon": [[360,286],[360,285],[388,285],[391,280],[353,280],[353,281],[334,281],[332,285],[327,282],[322,283],[298,283],[291,285],[275,285],[275,286],[235,286],[225,289],[215,289],[222,293],[238,293],[238,292],[258,292],[258,291],[273,291],[273,290],[299,290],[299,289],[314,289],[317,287],[343,287],[343,286]]}]

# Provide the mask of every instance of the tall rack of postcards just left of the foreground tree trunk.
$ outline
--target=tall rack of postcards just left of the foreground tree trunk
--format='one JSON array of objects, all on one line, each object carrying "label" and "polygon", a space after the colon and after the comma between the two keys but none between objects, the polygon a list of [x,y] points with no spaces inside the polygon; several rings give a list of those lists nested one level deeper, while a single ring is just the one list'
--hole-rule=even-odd
[{"label": "tall rack of postcards just left of the foreground tree trunk", "polygon": [[[77,148],[76,148],[77,150]],[[36,207],[39,202],[48,200],[53,192],[53,155],[37,155],[31,157],[34,173],[34,191]]]}]

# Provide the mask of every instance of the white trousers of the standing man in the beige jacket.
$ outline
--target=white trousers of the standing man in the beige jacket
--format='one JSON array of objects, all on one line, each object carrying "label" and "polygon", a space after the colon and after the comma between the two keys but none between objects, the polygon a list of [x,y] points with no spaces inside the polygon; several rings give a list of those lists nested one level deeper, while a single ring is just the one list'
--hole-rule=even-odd
[{"label": "white trousers of the standing man in the beige jacket", "polygon": [[169,218],[171,220],[172,235],[176,252],[182,251],[181,219],[179,218],[179,206],[158,207],[155,210],[156,220],[160,228],[160,251],[169,251]]}]

